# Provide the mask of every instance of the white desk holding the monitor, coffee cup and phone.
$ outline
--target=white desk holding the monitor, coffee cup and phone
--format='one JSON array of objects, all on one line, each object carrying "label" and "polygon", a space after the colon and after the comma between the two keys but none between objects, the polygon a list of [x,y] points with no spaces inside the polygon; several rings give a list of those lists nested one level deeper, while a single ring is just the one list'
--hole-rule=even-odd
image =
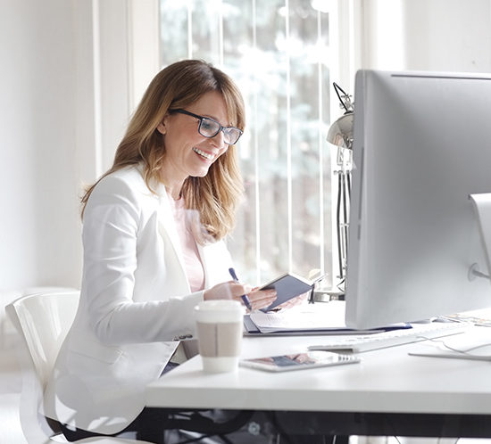
[{"label": "white desk holding the monitor, coffee cup and phone", "polygon": [[[295,352],[322,341],[319,336],[245,338],[243,357]],[[462,349],[491,343],[491,329],[472,327],[469,333],[446,337],[445,342]],[[363,353],[360,364],[284,374],[247,368],[234,374],[204,374],[201,358],[196,357],[149,385],[146,404],[310,412],[309,416],[312,412],[343,414],[348,422],[353,422],[354,414],[365,419],[375,414],[377,421],[379,415],[390,415],[391,427],[398,418],[406,425],[416,421],[410,426],[416,435],[419,433],[413,427],[432,419],[453,423],[446,432],[435,431],[436,435],[454,436],[454,427],[461,424],[461,436],[491,436],[491,362],[408,356],[409,351],[432,351],[435,347],[435,343],[414,343]],[[491,354],[491,347],[481,350]],[[486,430],[481,422],[490,423]],[[363,430],[371,433],[371,429]],[[360,429],[356,431],[350,432],[362,434]],[[373,430],[373,434],[382,433]]]}]

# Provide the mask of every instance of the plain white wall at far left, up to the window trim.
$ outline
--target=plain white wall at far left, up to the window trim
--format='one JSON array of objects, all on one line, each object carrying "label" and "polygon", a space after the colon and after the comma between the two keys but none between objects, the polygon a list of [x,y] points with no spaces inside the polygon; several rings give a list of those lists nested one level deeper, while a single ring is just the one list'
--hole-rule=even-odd
[{"label": "plain white wall at far left, up to the window trim", "polygon": [[79,283],[72,12],[1,3],[0,289]]}]

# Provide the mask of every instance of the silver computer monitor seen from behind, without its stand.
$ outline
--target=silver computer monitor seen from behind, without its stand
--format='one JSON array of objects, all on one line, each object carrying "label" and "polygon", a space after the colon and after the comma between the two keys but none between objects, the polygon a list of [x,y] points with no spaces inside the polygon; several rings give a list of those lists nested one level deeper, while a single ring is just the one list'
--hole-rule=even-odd
[{"label": "silver computer monitor seen from behind, without its stand", "polygon": [[469,199],[491,193],[491,75],[359,71],[353,156],[346,325],[491,306]]}]

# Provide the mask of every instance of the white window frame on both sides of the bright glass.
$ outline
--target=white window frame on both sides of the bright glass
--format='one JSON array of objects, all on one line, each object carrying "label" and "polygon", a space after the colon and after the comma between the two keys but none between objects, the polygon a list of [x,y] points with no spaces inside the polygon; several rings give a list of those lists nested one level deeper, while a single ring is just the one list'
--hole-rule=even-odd
[{"label": "white window frame on both sides of the bright glass", "polygon": [[[329,23],[330,77],[352,92],[354,70],[359,65],[362,48],[359,43],[362,29],[355,26],[357,21],[362,20],[362,1],[330,0],[329,8],[329,12],[337,15],[337,21]],[[159,0],[92,0],[92,12],[96,139],[93,159],[95,177],[98,177],[110,168],[113,152],[121,140],[129,116],[154,74],[160,70]],[[115,16],[119,20],[114,20]],[[113,85],[114,78],[121,79],[116,85],[117,91]],[[329,111],[331,120],[342,113],[336,101],[331,101]],[[329,149],[325,154],[329,155]],[[333,159],[332,150],[330,156]],[[335,185],[336,181],[333,180],[332,184]],[[336,201],[336,187],[331,188],[331,201]],[[336,224],[334,218],[335,214],[331,215],[333,227]],[[332,232],[334,246],[335,230]],[[332,268],[325,270],[333,276],[337,273],[336,256],[337,249],[333,247]]]}]

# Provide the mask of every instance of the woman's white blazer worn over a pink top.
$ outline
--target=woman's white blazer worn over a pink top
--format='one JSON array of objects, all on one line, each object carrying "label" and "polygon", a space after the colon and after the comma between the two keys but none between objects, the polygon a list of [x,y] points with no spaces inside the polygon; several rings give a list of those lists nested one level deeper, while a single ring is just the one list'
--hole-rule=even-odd
[{"label": "woman's white blazer worn over a pink top", "polygon": [[[163,185],[151,193],[141,168],[96,185],[84,213],[79,309],[45,391],[44,414],[112,434],[145,407],[179,339],[196,335],[179,235]],[[198,245],[205,288],[229,281],[225,243]]]}]

